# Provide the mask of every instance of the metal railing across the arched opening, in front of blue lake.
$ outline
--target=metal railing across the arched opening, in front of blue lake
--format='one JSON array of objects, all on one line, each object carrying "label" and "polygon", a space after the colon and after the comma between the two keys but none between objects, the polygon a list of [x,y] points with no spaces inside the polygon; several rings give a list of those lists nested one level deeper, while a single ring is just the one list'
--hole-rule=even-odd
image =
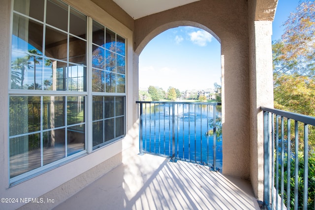
[{"label": "metal railing across the arched opening, in front of blue lake", "polygon": [[[139,150],[220,170],[220,114],[213,102],[136,101],[140,105]],[[219,120],[218,120],[219,119]],[[219,154],[219,158],[218,158]],[[219,167],[218,167],[219,166]]]}]

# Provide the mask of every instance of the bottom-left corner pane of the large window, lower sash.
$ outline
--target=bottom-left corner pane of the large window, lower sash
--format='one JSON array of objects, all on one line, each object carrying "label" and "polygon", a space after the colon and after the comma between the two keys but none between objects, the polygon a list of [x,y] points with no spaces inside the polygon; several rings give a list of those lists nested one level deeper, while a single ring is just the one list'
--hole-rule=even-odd
[{"label": "bottom-left corner pane of the large window, lower sash", "polygon": [[9,144],[10,178],[41,166],[39,133],[11,138]]}]

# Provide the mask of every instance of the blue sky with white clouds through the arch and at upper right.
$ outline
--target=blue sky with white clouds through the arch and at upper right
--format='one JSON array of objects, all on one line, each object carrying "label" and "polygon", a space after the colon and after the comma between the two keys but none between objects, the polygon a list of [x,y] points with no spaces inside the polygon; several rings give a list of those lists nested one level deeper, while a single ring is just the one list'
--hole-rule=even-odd
[{"label": "blue sky with white clouds through the arch and at upper right", "polygon": [[[300,0],[279,0],[272,40],[281,38],[283,24]],[[213,89],[221,85],[221,46],[210,33],[193,27],[166,30],[153,38],[139,56],[139,89],[167,91]]]}]

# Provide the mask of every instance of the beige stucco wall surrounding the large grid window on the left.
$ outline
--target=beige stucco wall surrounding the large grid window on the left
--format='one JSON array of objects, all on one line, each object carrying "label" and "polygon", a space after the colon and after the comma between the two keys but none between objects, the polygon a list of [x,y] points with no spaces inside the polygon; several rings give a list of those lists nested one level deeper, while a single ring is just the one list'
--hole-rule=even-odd
[{"label": "beige stucco wall surrounding the large grid window on the left", "polygon": [[[45,206],[29,203],[22,209],[52,208],[84,186],[136,153],[138,147],[138,111],[135,106],[138,86],[133,82],[133,32],[90,0],[64,0],[81,12],[126,38],[126,137],[90,154],[83,155],[58,168],[32,179],[9,186],[8,175],[8,72],[10,65],[11,0],[0,0],[0,195],[5,198],[51,198],[55,203]],[[121,12],[117,10],[117,12]],[[126,19],[126,21],[128,21]],[[134,105],[133,105],[134,104]],[[132,106],[129,106],[132,105]],[[135,148],[129,150],[130,148]],[[128,149],[128,150],[127,150]],[[0,209],[13,210],[24,204],[2,204]]]}]

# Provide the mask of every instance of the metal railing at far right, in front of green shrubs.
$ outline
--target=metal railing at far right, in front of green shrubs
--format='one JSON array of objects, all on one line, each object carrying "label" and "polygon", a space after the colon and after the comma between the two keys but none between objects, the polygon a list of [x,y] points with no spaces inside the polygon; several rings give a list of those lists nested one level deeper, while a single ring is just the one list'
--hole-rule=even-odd
[{"label": "metal railing at far right, in front of green shrubs", "polygon": [[314,129],[315,118],[266,107],[261,110],[265,205],[276,210],[315,209],[315,178],[309,173],[314,168],[309,156],[312,160],[315,158],[314,149],[309,147],[309,135],[312,135],[309,129]]}]

